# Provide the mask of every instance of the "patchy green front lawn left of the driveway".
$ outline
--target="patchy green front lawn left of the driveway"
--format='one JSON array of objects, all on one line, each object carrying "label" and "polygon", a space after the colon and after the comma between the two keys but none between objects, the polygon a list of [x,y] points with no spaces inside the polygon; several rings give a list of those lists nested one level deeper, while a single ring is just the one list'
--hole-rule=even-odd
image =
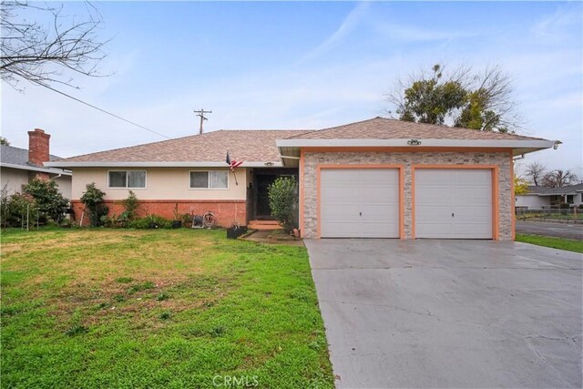
[{"label": "patchy green front lawn left of the driveway", "polygon": [[4,232],[2,387],[333,387],[305,249],[225,235]]}]

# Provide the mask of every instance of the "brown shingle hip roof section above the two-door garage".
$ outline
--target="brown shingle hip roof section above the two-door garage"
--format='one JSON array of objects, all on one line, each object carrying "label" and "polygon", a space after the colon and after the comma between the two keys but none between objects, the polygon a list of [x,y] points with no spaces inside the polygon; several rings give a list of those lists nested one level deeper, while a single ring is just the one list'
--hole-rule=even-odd
[{"label": "brown shingle hip roof section above the two-door garage", "polygon": [[324,128],[293,138],[302,139],[468,139],[468,140],[527,140],[522,137],[494,131],[452,128],[433,124],[414,123],[390,118],[371,118],[343,126]]}]

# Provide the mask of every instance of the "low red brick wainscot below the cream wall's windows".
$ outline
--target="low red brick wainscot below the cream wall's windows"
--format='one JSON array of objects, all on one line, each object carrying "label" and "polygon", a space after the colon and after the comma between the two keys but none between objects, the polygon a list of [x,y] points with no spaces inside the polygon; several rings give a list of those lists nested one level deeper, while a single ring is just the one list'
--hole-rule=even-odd
[{"label": "low red brick wainscot below the cream wall's windows", "polygon": [[[120,215],[124,211],[121,200],[105,200],[104,203],[109,208],[109,216],[114,213]],[[176,204],[178,204],[180,215],[185,213],[202,215],[211,211],[217,218],[217,226],[230,227],[234,221],[238,221],[241,225],[246,224],[247,212],[245,203],[245,200],[140,200],[137,213],[139,218],[158,215],[173,220],[174,210]],[[71,206],[75,220],[78,222],[83,213],[83,204],[79,200],[72,200]],[[83,219],[83,225],[89,225],[87,215]]]}]

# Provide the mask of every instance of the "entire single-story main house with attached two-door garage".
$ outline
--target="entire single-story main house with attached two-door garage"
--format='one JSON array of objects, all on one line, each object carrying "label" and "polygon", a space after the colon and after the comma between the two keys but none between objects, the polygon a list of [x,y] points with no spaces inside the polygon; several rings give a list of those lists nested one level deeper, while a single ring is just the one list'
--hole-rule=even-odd
[{"label": "entire single-story main house with attached two-door garage", "polygon": [[[132,189],[142,214],[216,213],[222,226],[268,218],[267,188],[299,178],[305,238],[514,237],[513,157],[555,141],[386,118],[321,130],[220,130],[62,159],[73,205],[89,182],[111,213]],[[225,162],[244,160],[234,173]]]}]

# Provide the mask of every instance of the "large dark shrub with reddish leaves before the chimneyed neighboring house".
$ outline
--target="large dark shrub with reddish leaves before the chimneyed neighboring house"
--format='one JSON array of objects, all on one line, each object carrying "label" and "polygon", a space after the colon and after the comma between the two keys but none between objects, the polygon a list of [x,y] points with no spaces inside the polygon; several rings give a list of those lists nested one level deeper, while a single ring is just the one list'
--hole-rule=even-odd
[{"label": "large dark shrub with reddish leaves before the chimneyed neighboring house", "polygon": [[58,191],[52,179],[32,179],[25,187],[25,193],[36,200],[38,210],[57,223],[63,219],[69,200]]}]

